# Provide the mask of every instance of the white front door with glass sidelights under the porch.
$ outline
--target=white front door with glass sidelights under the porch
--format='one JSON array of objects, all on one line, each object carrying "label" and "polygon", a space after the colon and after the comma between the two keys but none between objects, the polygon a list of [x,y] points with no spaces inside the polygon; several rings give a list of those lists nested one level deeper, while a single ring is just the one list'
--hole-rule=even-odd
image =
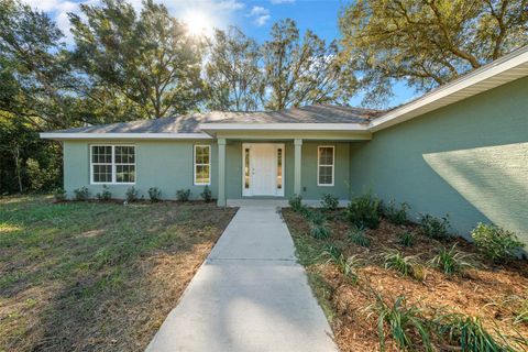
[{"label": "white front door with glass sidelights under the porch", "polygon": [[243,144],[243,195],[284,196],[284,144]]}]

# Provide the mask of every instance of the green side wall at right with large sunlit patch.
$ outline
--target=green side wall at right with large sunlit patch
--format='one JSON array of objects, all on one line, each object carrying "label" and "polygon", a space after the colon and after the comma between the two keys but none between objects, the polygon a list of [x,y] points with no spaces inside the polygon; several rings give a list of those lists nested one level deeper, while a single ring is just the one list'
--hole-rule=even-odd
[{"label": "green side wall at right with large sunlit patch", "polygon": [[494,222],[528,243],[528,78],[376,132],[350,166],[355,194],[448,213],[461,235]]}]

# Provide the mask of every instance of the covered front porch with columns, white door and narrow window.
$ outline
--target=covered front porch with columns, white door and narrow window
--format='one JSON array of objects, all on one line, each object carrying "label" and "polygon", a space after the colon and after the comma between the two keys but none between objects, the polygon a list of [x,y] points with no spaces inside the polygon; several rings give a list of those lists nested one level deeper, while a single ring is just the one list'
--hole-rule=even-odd
[{"label": "covered front porch with columns, white door and narrow window", "polygon": [[[350,148],[371,140],[363,125],[204,123],[218,143],[218,205],[282,205],[294,195],[317,202],[350,195]],[[252,201],[254,204],[254,201]]]}]

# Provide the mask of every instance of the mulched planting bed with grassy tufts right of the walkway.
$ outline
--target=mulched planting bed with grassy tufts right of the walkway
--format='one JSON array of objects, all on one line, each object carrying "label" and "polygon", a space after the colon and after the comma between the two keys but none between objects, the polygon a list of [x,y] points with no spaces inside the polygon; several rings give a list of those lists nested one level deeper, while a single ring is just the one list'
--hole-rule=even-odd
[{"label": "mulched planting bed with grassy tufts right of the walkway", "polygon": [[343,210],[283,216],[342,352],[382,342],[386,351],[528,350],[526,261],[497,265],[462,239],[431,239],[386,218],[362,231]]}]

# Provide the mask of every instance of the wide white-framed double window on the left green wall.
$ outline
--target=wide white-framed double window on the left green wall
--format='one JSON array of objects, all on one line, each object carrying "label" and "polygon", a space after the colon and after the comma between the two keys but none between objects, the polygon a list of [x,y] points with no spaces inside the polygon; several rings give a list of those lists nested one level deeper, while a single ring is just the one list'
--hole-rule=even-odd
[{"label": "wide white-framed double window on the left green wall", "polygon": [[90,145],[92,184],[134,184],[135,146]]}]

